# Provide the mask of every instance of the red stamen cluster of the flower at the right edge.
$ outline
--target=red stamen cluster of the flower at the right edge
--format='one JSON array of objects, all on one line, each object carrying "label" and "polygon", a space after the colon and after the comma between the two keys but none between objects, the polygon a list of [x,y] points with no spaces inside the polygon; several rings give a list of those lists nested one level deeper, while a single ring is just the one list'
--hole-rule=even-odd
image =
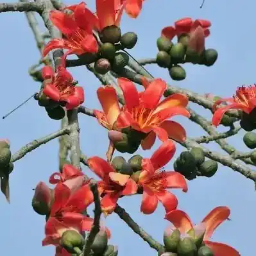
[{"label": "red stamen cluster of the flower at the right edge", "polygon": [[242,87],[238,87],[233,98],[236,103],[240,103],[246,105],[246,107],[249,107],[250,99],[256,98],[256,86],[250,85],[245,87],[245,85],[243,85]]}]

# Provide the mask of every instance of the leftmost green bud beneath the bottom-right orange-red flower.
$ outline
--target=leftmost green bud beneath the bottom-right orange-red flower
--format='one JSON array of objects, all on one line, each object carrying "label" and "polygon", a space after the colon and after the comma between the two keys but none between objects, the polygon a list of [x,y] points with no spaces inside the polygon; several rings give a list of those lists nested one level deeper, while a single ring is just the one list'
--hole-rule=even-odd
[{"label": "leftmost green bud beneath the bottom-right orange-red flower", "polygon": [[167,252],[177,252],[180,242],[180,230],[167,228],[164,232],[164,246]]}]

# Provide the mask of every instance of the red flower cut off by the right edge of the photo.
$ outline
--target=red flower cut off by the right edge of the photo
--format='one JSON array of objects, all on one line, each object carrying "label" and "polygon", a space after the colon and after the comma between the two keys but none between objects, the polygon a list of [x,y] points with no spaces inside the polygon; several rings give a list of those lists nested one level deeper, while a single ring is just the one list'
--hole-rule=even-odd
[{"label": "red flower cut off by the right edge of the photo", "polygon": [[[217,107],[221,103],[231,103],[230,105],[222,108]],[[238,87],[233,98],[224,98],[219,99],[214,103],[214,115],[212,117],[212,124],[214,126],[218,126],[221,123],[221,119],[226,111],[230,110],[230,108],[241,109],[243,112],[250,114],[252,110],[256,107],[256,85],[250,85],[246,87],[243,85],[242,87]]]}]

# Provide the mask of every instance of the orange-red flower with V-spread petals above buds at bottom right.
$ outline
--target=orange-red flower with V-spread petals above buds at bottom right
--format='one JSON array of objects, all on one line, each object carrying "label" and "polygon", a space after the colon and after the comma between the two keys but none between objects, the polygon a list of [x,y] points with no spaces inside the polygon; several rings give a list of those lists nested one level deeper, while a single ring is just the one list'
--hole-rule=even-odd
[{"label": "orange-red flower with V-spread petals above buds at bottom right", "polygon": [[230,216],[230,209],[225,206],[216,207],[213,209],[204,219],[201,221],[200,225],[194,226],[191,219],[185,212],[182,210],[173,210],[166,214],[165,219],[171,221],[176,228],[180,230],[182,233],[187,233],[191,228],[195,230],[200,230],[203,228],[204,236],[203,242],[206,246],[209,246],[214,256],[241,256],[237,250],[234,248],[222,244],[209,241],[212,233],[218,226],[223,223]]}]

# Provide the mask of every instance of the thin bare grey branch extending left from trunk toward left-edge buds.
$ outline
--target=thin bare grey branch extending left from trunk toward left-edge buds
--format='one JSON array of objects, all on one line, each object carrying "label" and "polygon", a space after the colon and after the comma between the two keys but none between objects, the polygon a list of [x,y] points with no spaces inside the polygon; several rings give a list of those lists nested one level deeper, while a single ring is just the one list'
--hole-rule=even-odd
[{"label": "thin bare grey branch extending left from trunk toward left-edge buds", "polygon": [[57,132],[51,133],[45,137],[42,137],[41,139],[37,139],[34,141],[31,141],[30,143],[26,144],[26,146],[23,146],[19,151],[17,151],[15,154],[12,155],[11,162],[15,162],[22,157],[24,157],[27,153],[31,152],[32,150],[38,148],[42,144],[46,144],[47,142],[60,137],[65,134],[69,134],[70,128],[65,127],[64,129],[58,130]]}]

